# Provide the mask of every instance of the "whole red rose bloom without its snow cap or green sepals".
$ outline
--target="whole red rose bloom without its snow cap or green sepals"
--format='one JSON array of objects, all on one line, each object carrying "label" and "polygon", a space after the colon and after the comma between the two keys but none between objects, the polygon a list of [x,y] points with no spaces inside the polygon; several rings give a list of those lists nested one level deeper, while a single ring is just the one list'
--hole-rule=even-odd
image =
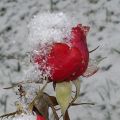
[{"label": "whole red rose bloom without its snow cap or green sepals", "polygon": [[69,43],[54,43],[47,56],[34,55],[34,62],[39,65],[46,60],[45,67],[51,68],[49,79],[53,82],[75,80],[86,71],[89,51],[86,43],[86,32],[89,28],[82,25],[73,27]]}]

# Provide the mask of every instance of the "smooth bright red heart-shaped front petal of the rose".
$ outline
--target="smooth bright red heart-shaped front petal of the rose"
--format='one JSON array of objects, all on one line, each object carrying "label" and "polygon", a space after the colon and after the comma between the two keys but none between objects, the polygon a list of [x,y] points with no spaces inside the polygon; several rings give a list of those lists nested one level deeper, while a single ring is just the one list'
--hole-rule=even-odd
[{"label": "smooth bright red heart-shaped front petal of the rose", "polygon": [[63,43],[56,43],[52,48],[48,64],[52,69],[52,79],[61,82],[68,79],[80,67],[80,51]]}]

